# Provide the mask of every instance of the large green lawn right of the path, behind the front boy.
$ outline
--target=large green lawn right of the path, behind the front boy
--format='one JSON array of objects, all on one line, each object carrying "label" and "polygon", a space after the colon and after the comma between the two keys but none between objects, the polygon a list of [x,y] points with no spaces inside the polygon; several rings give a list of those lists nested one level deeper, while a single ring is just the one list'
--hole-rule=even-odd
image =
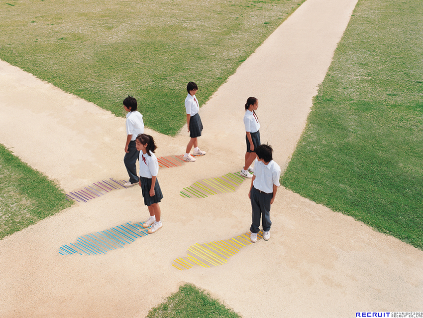
[{"label": "large green lawn right of the path, behind the front boy", "polygon": [[282,183],[423,249],[423,6],[359,0]]}]

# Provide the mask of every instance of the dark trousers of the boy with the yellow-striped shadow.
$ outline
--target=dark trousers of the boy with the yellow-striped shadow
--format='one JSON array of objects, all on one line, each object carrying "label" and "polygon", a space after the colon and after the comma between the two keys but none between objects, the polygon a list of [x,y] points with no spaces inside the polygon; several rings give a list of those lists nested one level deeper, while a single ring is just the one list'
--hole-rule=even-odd
[{"label": "dark trousers of the boy with the yellow-striped shadow", "polygon": [[272,222],[270,221],[270,200],[272,200],[273,193],[263,193],[257,190],[254,186],[251,188],[251,208],[253,210],[252,223],[250,227],[251,233],[258,233],[260,231],[260,217],[263,225],[263,232],[270,231]]}]

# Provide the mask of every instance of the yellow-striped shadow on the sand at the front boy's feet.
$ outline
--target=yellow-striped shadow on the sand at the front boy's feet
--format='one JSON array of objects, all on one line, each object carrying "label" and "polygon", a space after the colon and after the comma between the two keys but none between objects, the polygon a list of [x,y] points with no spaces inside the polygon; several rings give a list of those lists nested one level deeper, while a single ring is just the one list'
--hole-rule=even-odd
[{"label": "yellow-striped shadow on the sand at the front boy's feet", "polygon": [[[261,238],[263,238],[262,231],[257,234],[257,239],[260,240]],[[226,263],[241,248],[250,244],[253,243],[250,240],[250,232],[247,232],[228,240],[191,245],[188,248],[187,256],[175,259],[172,266],[180,271],[188,270],[194,266],[219,266]]]}]

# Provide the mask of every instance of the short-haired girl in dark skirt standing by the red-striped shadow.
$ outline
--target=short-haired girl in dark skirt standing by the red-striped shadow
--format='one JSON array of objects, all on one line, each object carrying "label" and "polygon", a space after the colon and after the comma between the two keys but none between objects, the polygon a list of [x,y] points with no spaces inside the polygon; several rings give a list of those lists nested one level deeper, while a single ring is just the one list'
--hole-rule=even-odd
[{"label": "short-haired girl in dark skirt standing by the red-striped shadow", "polygon": [[201,122],[200,115],[198,111],[200,105],[196,98],[196,93],[198,91],[198,86],[194,82],[189,82],[187,85],[188,96],[185,99],[185,110],[187,112],[187,125],[188,132],[190,133],[190,142],[187,145],[187,150],[183,159],[185,161],[194,162],[196,159],[190,155],[191,149],[194,146],[194,155],[195,156],[204,156],[206,155],[205,151],[201,151],[198,148],[197,137],[201,136],[201,131],[203,130],[203,123]]}]

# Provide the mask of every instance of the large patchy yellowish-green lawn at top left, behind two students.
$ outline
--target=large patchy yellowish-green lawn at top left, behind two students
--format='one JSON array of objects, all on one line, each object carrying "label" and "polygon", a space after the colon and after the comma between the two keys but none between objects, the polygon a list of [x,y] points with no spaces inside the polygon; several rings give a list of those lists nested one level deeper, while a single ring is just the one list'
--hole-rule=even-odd
[{"label": "large patchy yellowish-green lawn at top left, behind two students", "polygon": [[175,135],[187,83],[204,104],[304,1],[12,1],[0,58],[117,116],[133,95],[147,127]]}]

